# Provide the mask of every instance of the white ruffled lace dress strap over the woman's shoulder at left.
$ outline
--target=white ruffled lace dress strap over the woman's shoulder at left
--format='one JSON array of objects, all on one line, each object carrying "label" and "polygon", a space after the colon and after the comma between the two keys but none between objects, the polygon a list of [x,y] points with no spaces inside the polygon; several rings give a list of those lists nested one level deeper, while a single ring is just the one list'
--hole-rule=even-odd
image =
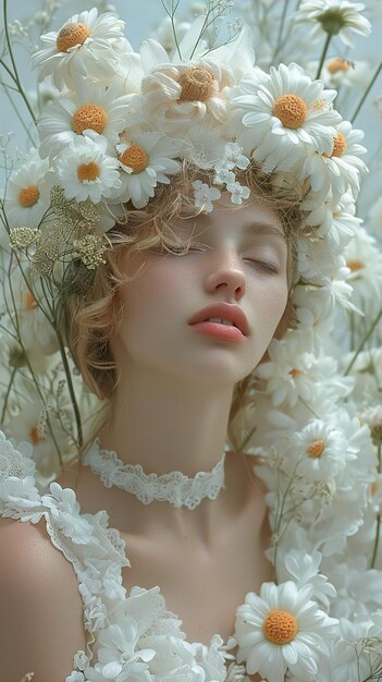
[{"label": "white ruffled lace dress strap over the woman's shoulder at left", "polygon": [[128,565],[125,544],[108,527],[108,514],[82,514],[74,490],[51,483],[40,495],[29,443],[17,448],[0,431],[0,515],[23,523],[46,521],[52,545],[67,559],[78,581],[84,628],[90,635],[104,628],[107,612],[125,597],[122,567]]}]

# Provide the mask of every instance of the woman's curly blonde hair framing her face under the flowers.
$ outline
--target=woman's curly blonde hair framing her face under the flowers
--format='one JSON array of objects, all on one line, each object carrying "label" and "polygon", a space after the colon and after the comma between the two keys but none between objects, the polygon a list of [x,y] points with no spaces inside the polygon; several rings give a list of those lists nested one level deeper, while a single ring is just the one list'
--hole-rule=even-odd
[{"label": "woman's curly blonde hair framing her face under the flowers", "polygon": [[[71,285],[70,294],[64,296],[62,319],[66,344],[84,382],[101,400],[112,397],[119,381],[109,338],[123,316],[119,289],[132,280],[126,272],[126,255],[158,245],[164,249],[178,245],[178,236],[172,226],[185,210],[188,214],[194,210],[197,215],[192,187],[195,179],[210,184],[212,173],[185,165],[183,172],[172,179],[170,185],[158,187],[156,196],[144,210],[136,210],[132,205],[124,206],[123,220],[120,219],[108,232],[111,247],[104,253],[106,263],[98,266],[93,277],[83,269],[75,285]],[[294,287],[296,238],[304,229],[299,208],[303,196],[287,183],[282,188],[280,182],[275,186],[274,178],[262,173],[255,162],[237,174],[237,179],[250,190],[246,206],[260,203],[275,210],[287,239],[289,296],[274,334],[281,338],[287,328],[295,327],[291,294]],[[237,210],[239,207],[233,206],[232,209]],[[254,381],[251,373],[236,385],[229,429],[241,410],[252,400]]]}]

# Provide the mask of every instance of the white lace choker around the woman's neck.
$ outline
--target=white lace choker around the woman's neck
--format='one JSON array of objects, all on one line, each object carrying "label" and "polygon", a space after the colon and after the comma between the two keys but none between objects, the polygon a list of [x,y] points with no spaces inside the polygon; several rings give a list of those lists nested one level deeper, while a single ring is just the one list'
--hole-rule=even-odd
[{"label": "white lace choker around the woman's neck", "polygon": [[224,460],[225,453],[210,472],[198,472],[193,478],[182,472],[145,474],[140,464],[124,464],[112,450],[100,450],[98,438],[83,458],[107,488],[122,488],[144,504],[156,500],[187,509],[195,509],[205,498],[217,499],[224,488]]}]

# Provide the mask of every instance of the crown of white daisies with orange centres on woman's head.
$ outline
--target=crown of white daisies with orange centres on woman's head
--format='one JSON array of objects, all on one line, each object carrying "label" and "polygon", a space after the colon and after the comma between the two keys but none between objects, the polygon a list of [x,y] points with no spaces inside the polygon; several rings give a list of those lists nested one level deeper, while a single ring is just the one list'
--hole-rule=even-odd
[{"label": "crown of white daisies with orange centres on woman's head", "polygon": [[196,211],[210,212],[223,190],[233,204],[248,198],[236,175],[255,161],[275,193],[301,188],[308,230],[296,277],[333,295],[359,224],[362,133],[333,108],[336,92],[298,64],[258,68],[248,27],[212,48],[205,27],[198,16],[172,59],[153,39],[135,52],[124,22],[97,9],[41,37],[33,62],[54,95],[38,120],[39,149],[11,178],[11,246],[42,275],[78,259],[95,270],[125,207],[144,209],[184,163],[209,172],[211,182],[193,190]]}]

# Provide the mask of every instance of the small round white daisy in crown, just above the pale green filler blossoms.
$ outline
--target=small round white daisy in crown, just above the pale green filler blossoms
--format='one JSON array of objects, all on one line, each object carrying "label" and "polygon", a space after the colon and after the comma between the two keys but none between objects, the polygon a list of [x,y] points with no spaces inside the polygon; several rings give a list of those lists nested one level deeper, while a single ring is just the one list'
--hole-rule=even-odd
[{"label": "small round white daisy in crown, just above the pale green filler blossoms", "polygon": [[[97,142],[96,142],[96,141]],[[119,162],[106,154],[107,141],[101,135],[73,141],[54,159],[53,184],[63,187],[67,199],[98,204],[121,187]]]}]

